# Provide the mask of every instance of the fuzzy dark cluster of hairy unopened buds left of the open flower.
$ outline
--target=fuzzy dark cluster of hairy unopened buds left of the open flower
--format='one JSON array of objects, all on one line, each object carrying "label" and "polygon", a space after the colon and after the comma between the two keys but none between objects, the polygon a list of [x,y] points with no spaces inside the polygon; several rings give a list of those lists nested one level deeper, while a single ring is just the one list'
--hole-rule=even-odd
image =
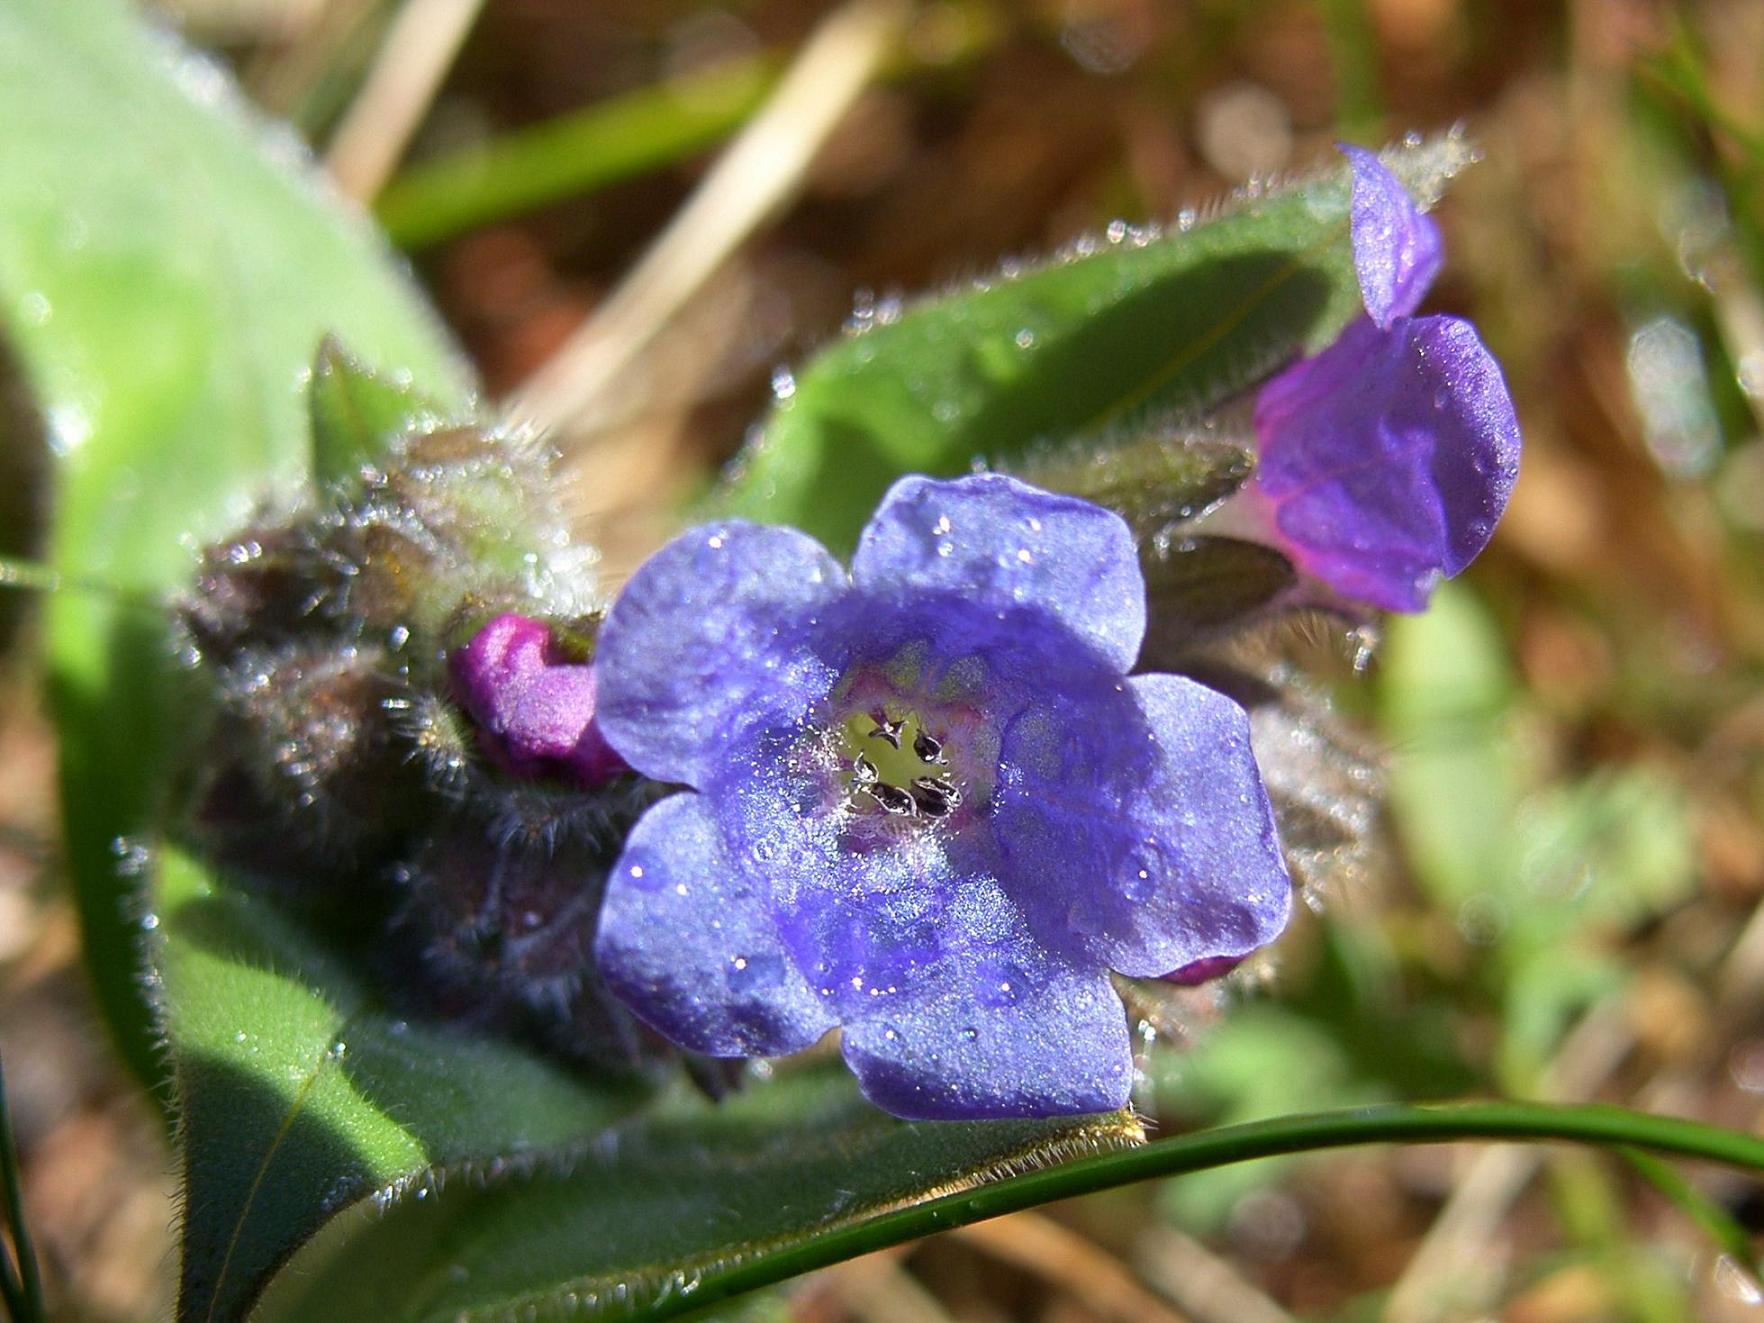
[{"label": "fuzzy dark cluster of hairy unopened buds left of the open flower", "polygon": [[360,942],[393,1005],[628,1069],[660,1044],[591,946],[653,789],[617,760],[593,790],[508,774],[448,667],[510,614],[547,651],[593,649],[589,563],[550,492],[527,439],[415,430],[206,547],[178,607],[212,711],[191,824],[229,880]]}]

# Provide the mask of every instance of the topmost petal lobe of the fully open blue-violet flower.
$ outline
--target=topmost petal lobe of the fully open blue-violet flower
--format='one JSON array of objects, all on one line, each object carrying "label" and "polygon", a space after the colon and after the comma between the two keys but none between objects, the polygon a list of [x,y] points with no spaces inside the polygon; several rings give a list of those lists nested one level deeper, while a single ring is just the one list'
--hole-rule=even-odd
[{"label": "topmost petal lobe of the fully open blue-violet flower", "polygon": [[1120,515],[998,473],[896,482],[857,543],[852,582],[875,596],[1046,612],[1118,672],[1145,637],[1145,579]]}]

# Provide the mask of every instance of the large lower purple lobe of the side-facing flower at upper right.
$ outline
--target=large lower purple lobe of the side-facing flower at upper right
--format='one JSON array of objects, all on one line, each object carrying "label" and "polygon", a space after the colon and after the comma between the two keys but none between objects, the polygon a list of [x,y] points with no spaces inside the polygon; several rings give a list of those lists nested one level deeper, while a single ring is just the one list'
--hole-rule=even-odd
[{"label": "large lower purple lobe of the side-facing flower at upper right", "polygon": [[1295,561],[1342,596],[1420,610],[1487,545],[1519,420],[1459,318],[1349,326],[1256,397],[1256,490]]}]

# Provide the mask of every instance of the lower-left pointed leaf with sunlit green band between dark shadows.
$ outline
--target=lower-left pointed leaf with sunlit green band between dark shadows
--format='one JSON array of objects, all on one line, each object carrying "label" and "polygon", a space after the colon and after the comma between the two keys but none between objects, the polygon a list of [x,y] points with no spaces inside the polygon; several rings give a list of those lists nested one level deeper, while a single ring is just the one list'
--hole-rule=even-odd
[{"label": "lower-left pointed leaf with sunlit green band between dark shadows", "polygon": [[159,873],[183,1319],[243,1318],[296,1245],[370,1192],[568,1152],[642,1101],[390,1014],[344,961],[182,850]]}]

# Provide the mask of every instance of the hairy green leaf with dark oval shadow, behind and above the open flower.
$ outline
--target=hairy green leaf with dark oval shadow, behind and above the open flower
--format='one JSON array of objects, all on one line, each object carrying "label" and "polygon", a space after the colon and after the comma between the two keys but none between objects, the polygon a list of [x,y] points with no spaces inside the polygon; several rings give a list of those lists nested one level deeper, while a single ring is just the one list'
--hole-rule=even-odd
[{"label": "hairy green leaf with dark oval shadow, behind and above the open flower", "polygon": [[[1387,161],[1431,205],[1459,138]],[[1115,224],[1044,266],[870,307],[780,390],[721,503],[850,547],[901,473],[953,475],[1071,439],[1200,420],[1360,312],[1346,164],[1168,231]]]}]

